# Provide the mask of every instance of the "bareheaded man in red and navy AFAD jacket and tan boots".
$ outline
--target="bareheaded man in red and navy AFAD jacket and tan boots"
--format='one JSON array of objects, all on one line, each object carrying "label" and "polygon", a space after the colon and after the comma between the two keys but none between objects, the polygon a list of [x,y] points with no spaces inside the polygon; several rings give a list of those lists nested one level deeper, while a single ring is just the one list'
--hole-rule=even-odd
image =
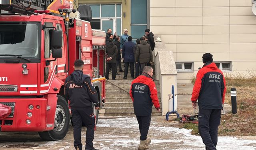
[{"label": "bareheaded man in red and navy AFAD jacket and tan boots", "polygon": [[138,120],[140,129],[139,150],[148,149],[150,138],[147,138],[151,121],[152,106],[160,112],[160,104],[157,97],[155,82],[152,78],[153,69],[150,66],[143,68],[143,73],[132,81],[130,97],[132,98],[134,114]]}]

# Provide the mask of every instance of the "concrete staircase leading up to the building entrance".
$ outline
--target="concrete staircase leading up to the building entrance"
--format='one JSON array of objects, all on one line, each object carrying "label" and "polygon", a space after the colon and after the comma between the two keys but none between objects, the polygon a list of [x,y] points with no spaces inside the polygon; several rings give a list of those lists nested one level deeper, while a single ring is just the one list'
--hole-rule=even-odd
[{"label": "concrete staircase leading up to the building entrance", "polygon": [[[122,66],[124,70],[124,66]],[[152,65],[154,70],[154,65]],[[111,73],[109,74],[109,79],[114,84],[120,86],[127,92],[130,91],[131,83],[134,79],[130,76],[130,68],[128,71],[127,79],[122,79],[124,77],[124,72],[118,72],[121,74],[120,76],[116,76],[116,80],[111,80]],[[135,70],[134,70],[135,74]],[[153,76],[154,77],[154,76]],[[160,97],[160,84],[158,80],[155,80],[156,88],[158,90],[158,99],[160,101],[161,106],[161,97]],[[121,90],[120,88],[114,86],[110,82],[106,82],[106,103],[104,106],[104,110],[100,111],[104,114],[104,116],[134,116],[134,108],[133,102],[130,98],[130,95]],[[100,114],[103,116],[103,114]],[[152,115],[162,115],[162,112],[156,112],[154,106],[152,107]]]}]

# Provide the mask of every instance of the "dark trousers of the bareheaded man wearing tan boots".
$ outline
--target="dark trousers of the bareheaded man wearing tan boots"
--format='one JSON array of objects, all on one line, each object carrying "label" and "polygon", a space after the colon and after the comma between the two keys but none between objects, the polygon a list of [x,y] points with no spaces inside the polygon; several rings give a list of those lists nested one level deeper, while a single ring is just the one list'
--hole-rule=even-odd
[{"label": "dark trousers of the bareheaded man wearing tan boots", "polygon": [[151,122],[150,116],[136,116],[140,129],[140,140],[144,141],[147,139],[148,129]]}]

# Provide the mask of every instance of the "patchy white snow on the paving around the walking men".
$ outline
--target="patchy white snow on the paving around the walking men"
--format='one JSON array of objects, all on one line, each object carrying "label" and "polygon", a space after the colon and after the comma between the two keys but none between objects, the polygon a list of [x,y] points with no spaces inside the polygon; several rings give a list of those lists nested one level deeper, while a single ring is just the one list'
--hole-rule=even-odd
[{"label": "patchy white snow on the paving around the walking men", "polygon": [[[108,132],[104,136],[95,135],[94,142],[100,143],[101,150],[109,150],[108,146],[122,146],[122,150],[136,147],[139,144],[139,130],[136,118],[117,118],[98,120],[99,128],[113,128],[113,133]],[[152,139],[150,149],[154,145],[168,150],[203,150],[204,144],[200,136],[190,134],[191,130],[180,129],[171,126],[163,126],[162,122],[151,121],[148,138]],[[116,133],[116,134],[115,134]],[[104,141],[102,143],[101,141]],[[153,145],[152,145],[153,144]],[[153,147],[152,147],[153,146]],[[218,150],[256,150],[256,140],[241,140],[236,137],[219,136]]]}]

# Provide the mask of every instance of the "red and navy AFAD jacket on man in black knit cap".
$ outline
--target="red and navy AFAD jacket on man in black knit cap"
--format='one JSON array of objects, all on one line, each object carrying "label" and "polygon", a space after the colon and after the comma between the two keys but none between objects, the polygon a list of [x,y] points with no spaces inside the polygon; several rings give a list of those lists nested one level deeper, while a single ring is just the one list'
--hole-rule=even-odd
[{"label": "red and navy AFAD jacket on man in black knit cap", "polygon": [[199,108],[223,109],[226,94],[226,80],[215,63],[206,62],[196,74],[192,102],[198,100]]}]

